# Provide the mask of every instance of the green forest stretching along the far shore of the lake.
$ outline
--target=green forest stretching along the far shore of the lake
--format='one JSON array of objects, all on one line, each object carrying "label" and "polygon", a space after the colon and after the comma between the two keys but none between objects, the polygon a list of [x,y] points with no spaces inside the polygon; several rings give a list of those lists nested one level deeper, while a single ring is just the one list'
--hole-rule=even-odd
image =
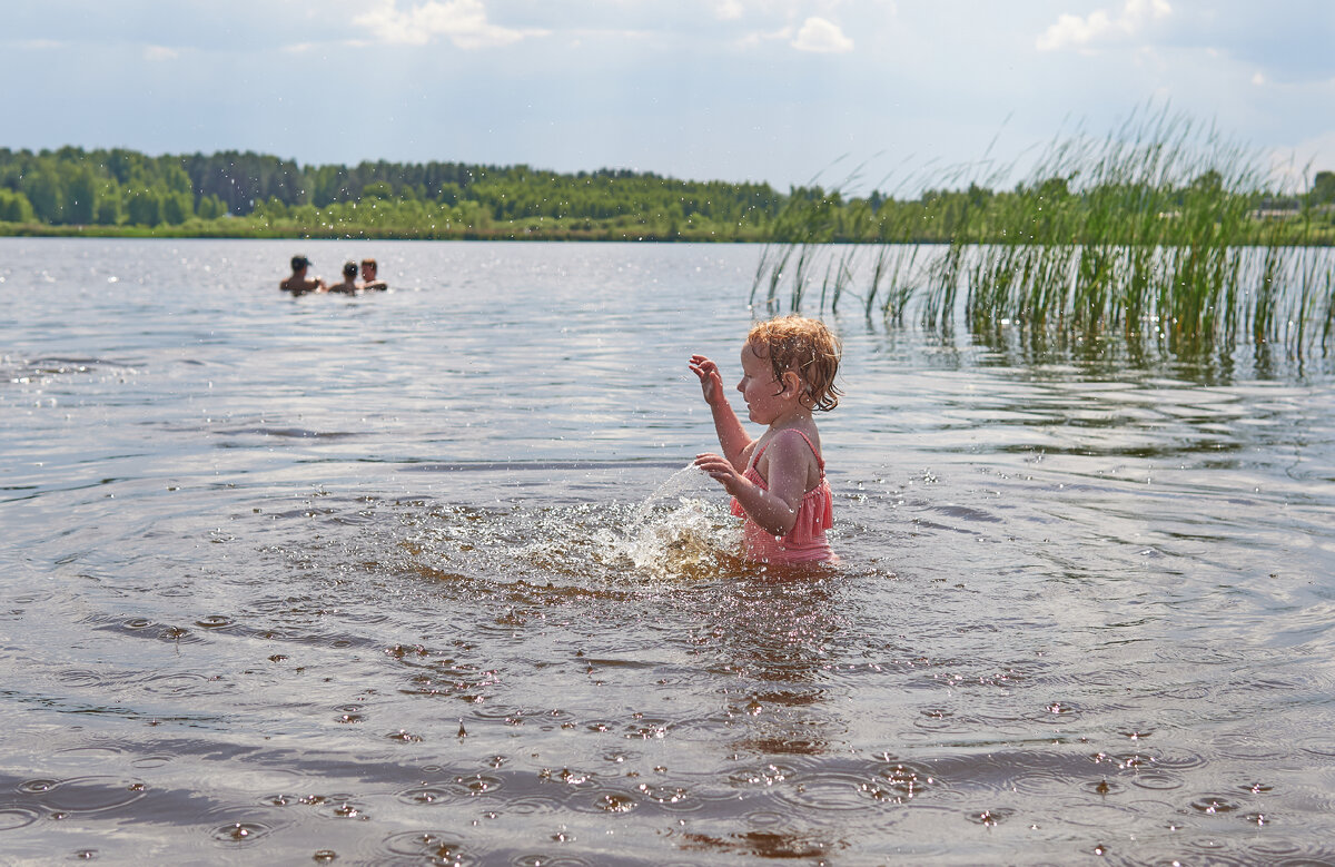
[{"label": "green forest stretching along the far shore of the lake", "polygon": [[[968,214],[1027,192],[1033,190],[1023,184],[1015,191],[969,184],[894,199],[607,168],[300,166],[236,151],[0,148],[0,235],[943,242],[957,239],[963,226],[987,224]],[[1059,202],[1080,194],[1053,178],[1044,195]],[[1335,236],[1332,172],[1318,172],[1300,196],[1251,195],[1259,218],[1296,219],[1302,211],[1311,227],[1315,212],[1326,228],[1307,236],[1319,243]],[[818,231],[794,214],[820,214]],[[996,240],[980,231],[975,240]]]}]

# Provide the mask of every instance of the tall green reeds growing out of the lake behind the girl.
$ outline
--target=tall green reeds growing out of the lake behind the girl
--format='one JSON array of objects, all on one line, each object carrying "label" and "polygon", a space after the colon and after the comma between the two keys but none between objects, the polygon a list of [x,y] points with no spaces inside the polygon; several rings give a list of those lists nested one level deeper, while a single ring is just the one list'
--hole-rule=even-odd
[{"label": "tall green reeds growing out of the lake behind the girl", "polygon": [[[826,238],[873,243],[857,258],[862,274],[852,271],[846,250],[822,247],[838,289],[864,287],[866,315],[902,322],[914,306],[933,329],[963,318],[975,331],[1005,323],[1120,333],[1171,351],[1239,341],[1335,350],[1331,256],[1307,246],[1315,240],[1311,212],[1258,215],[1275,184],[1262,164],[1212,127],[1147,108],[1104,138],[1076,131],[1055,139],[1013,191],[971,184],[964,194],[892,199],[862,234],[840,231],[846,226],[829,219],[834,208],[790,199],[792,214],[776,227],[805,219]],[[967,178],[957,171],[932,180],[963,187]],[[814,255],[802,244],[804,273]],[[769,277],[773,298],[784,274]],[[801,298],[796,287],[793,297]]]}]

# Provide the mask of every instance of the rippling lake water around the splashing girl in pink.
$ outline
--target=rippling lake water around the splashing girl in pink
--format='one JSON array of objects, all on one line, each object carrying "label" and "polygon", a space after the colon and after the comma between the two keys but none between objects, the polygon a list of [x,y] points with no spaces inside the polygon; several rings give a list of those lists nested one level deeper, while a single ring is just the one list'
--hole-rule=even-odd
[{"label": "rippling lake water around the splashing girl in pink", "polygon": [[1335,863],[1331,362],[829,318],[768,573],[757,256],[0,240],[0,863]]}]

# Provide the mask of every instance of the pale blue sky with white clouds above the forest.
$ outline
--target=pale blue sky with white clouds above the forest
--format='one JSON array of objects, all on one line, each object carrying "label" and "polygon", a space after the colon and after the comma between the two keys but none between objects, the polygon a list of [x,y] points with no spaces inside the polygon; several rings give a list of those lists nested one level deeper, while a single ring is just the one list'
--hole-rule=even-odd
[{"label": "pale blue sky with white clouds above the forest", "polygon": [[0,19],[9,148],[894,191],[1152,107],[1303,188],[1335,170],[1332,0],[0,0]]}]

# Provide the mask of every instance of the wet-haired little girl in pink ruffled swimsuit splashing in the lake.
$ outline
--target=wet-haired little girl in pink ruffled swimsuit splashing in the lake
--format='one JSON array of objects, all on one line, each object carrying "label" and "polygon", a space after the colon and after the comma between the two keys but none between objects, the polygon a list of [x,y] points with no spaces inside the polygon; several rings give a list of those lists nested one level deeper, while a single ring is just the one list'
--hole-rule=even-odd
[{"label": "wet-haired little girl in pink ruffled swimsuit splashing in the lake", "polygon": [[737,383],[748,417],[768,426],[760,440],[752,440],[728,403],[718,365],[704,355],[690,357],[724,449],[721,456],[698,456],[696,466],[733,496],[733,514],[745,518],[748,560],[837,560],[825,538],[834,501],[812,413],[838,405],[838,339],[818,319],[790,315],[756,325],[742,346]]}]

